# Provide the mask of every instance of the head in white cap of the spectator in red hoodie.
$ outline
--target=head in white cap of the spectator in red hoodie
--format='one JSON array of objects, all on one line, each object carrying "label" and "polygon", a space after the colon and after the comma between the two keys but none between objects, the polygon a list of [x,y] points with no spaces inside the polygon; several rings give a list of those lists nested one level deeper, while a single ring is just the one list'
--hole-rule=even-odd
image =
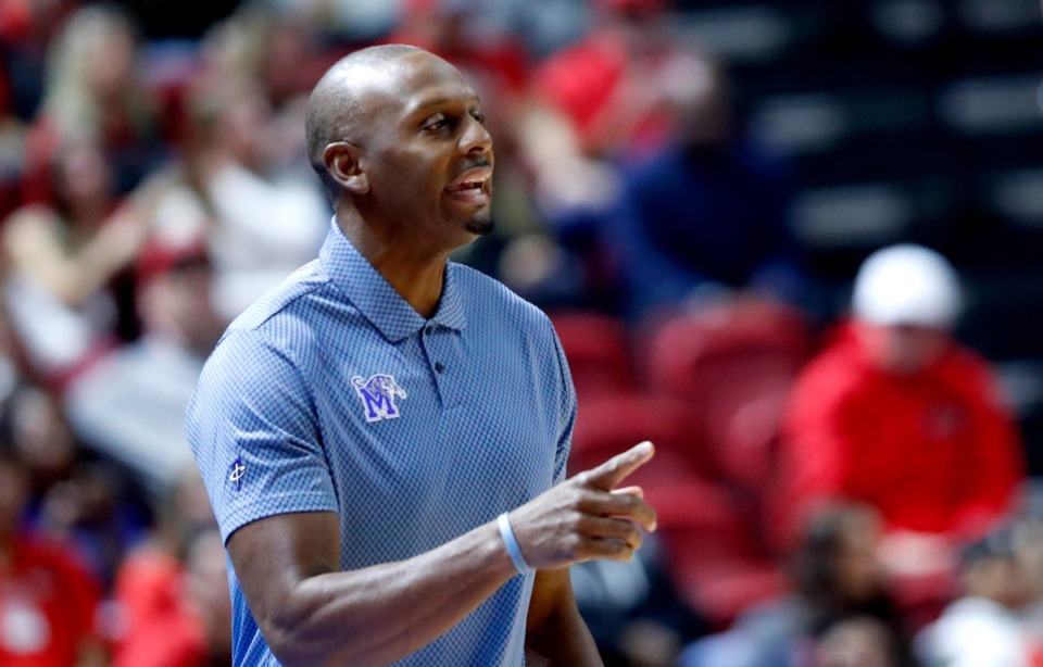
[{"label": "head in white cap of the spectator in red hoodie", "polygon": [[919,373],[944,352],[962,307],[956,270],[920,246],[880,250],[855,278],[859,339],[870,360],[895,375]]}]

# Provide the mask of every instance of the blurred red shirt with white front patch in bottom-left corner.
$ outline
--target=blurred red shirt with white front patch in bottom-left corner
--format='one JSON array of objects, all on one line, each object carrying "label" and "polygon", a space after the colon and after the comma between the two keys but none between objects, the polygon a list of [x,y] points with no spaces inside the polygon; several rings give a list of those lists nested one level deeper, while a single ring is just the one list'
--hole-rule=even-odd
[{"label": "blurred red shirt with white front patch in bottom-left corner", "polygon": [[68,667],[92,641],[100,589],[59,548],[34,539],[14,545],[0,568],[0,665]]}]

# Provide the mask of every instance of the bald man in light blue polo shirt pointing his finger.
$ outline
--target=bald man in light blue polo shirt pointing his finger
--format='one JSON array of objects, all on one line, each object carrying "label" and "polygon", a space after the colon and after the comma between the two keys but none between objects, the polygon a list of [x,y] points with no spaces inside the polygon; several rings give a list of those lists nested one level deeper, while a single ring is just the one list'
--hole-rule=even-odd
[{"label": "bald man in light blue polo shirt pointing his finger", "polygon": [[536,307],[449,261],[492,227],[478,96],[430,53],[318,83],[319,257],[206,364],[189,438],[231,564],[236,665],[601,660],[568,566],[629,559],[636,445],[564,479],[576,397]]}]

